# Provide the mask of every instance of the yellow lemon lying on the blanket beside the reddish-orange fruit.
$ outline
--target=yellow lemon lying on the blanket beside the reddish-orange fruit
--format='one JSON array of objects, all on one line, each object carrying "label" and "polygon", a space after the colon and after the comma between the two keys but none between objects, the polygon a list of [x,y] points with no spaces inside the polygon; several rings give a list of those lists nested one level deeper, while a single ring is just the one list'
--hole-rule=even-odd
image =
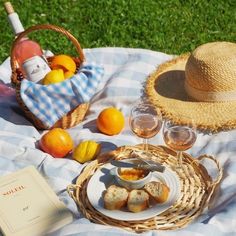
[{"label": "yellow lemon lying on the blanket beside the reddish-orange fruit", "polygon": [[93,160],[101,151],[101,144],[87,140],[79,143],[73,151],[73,159],[85,163]]}]

